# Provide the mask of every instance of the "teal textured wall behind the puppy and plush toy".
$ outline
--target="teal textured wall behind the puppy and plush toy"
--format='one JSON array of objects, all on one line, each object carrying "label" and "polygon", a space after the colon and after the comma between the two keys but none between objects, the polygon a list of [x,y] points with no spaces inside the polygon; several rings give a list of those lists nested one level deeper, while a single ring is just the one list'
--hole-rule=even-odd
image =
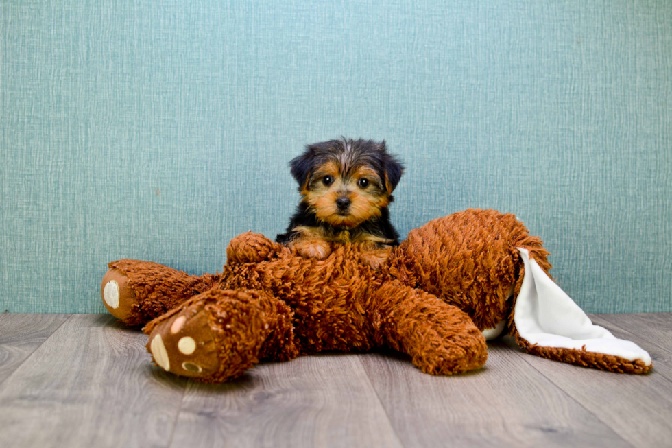
[{"label": "teal textured wall behind the puppy and plush toy", "polygon": [[221,269],[342,134],[406,162],[403,235],[516,213],[586,311],[672,311],[672,2],[438,3],[2,0],[1,310],[104,311],[119,258]]}]

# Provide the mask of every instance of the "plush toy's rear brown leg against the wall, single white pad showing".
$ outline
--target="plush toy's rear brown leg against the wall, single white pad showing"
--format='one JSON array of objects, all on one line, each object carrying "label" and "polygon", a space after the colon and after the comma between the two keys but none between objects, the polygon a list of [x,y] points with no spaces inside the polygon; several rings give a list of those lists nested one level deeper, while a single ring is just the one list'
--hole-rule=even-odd
[{"label": "plush toy's rear brown leg against the wall, single white pad showing", "polygon": [[217,281],[150,261],[119,260],[108,267],[100,285],[103,304],[126,325],[144,325]]}]

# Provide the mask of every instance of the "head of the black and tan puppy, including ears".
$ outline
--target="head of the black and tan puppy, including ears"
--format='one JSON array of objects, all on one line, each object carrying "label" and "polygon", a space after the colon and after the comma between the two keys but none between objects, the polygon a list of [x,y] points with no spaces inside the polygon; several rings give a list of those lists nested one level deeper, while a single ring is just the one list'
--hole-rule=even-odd
[{"label": "head of the black and tan puppy, including ears", "polygon": [[361,139],[308,145],[290,165],[302,201],[317,219],[343,227],[380,216],[404,172],[385,141]]}]

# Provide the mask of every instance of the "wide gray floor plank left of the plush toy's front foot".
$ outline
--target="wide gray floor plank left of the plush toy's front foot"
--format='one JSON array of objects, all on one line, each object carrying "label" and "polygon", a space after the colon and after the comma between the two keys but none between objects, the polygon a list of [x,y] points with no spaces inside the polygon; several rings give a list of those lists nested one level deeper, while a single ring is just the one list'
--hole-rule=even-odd
[{"label": "wide gray floor plank left of the plush toy's front foot", "polygon": [[187,381],[153,368],[146,342],[112,316],[71,316],[0,384],[0,446],[167,446]]}]

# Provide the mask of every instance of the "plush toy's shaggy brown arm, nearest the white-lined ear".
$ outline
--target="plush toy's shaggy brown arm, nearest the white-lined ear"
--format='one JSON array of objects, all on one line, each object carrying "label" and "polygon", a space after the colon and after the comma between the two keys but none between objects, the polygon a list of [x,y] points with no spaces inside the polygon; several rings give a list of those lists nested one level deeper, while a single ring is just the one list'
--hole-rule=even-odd
[{"label": "plush toy's shaggy brown arm, nearest the white-lined ear", "polygon": [[461,309],[398,281],[381,287],[374,301],[377,342],[411,355],[423,372],[451,375],[485,364],[485,338]]}]

